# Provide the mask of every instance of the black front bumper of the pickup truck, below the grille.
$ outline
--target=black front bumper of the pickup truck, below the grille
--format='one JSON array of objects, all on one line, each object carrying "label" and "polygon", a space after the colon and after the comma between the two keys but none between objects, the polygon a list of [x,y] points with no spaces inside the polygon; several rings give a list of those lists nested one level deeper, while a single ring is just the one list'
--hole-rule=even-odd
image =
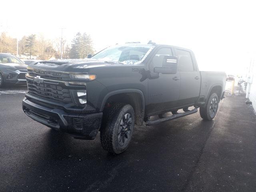
[{"label": "black front bumper of the pickup truck, below the grille", "polygon": [[47,108],[31,102],[26,97],[22,101],[26,115],[50,128],[70,134],[77,139],[92,140],[100,129],[102,112],[92,114],[68,113],[59,108]]}]

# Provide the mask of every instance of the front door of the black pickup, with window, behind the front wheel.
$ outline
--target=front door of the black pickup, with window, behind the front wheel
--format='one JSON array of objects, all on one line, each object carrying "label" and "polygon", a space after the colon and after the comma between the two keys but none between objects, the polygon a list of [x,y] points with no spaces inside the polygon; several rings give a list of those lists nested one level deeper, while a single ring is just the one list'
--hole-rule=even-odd
[{"label": "front door of the black pickup, with window, behind the front wheel", "polygon": [[[150,72],[154,67],[162,67],[164,56],[173,56],[170,47],[158,48],[150,61]],[[180,73],[159,74],[159,78],[148,80],[148,106],[146,114],[154,115],[177,106],[180,94]]]}]

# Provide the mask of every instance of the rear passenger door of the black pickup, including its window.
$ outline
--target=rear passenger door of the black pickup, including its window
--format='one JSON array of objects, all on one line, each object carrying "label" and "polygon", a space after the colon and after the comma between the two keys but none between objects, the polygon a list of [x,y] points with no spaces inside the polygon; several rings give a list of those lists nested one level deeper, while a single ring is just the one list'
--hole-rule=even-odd
[{"label": "rear passenger door of the black pickup, including its window", "polygon": [[200,72],[197,68],[194,54],[186,49],[175,48],[178,56],[178,71],[180,72],[179,106],[194,104],[200,93]]}]

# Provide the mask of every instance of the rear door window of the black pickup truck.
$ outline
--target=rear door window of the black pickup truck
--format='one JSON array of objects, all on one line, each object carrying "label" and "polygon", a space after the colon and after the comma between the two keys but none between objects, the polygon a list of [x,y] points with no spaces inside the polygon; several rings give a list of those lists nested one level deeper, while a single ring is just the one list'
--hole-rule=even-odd
[{"label": "rear door window of the black pickup truck", "polygon": [[178,70],[179,71],[194,71],[192,58],[189,51],[176,49],[176,56],[178,56]]}]

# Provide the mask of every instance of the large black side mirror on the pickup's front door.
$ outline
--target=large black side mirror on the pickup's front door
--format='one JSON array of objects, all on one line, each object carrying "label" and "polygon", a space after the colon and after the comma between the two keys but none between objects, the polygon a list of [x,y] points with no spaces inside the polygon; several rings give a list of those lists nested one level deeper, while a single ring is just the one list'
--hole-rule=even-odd
[{"label": "large black side mirror on the pickup's front door", "polygon": [[162,67],[155,67],[154,72],[162,74],[176,74],[178,68],[178,57],[165,56]]}]

